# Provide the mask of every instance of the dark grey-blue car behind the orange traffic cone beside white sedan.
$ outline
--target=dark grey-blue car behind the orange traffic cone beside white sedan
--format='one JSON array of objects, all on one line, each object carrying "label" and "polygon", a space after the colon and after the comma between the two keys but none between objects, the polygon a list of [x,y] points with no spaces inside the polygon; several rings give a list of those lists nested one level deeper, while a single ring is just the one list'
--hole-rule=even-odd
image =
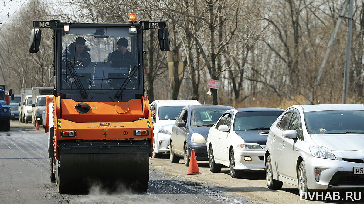
[{"label": "dark grey-blue car behind the orange traffic cone beside white sedan", "polygon": [[198,161],[208,161],[207,135],[221,115],[232,106],[193,105],[185,106],[172,127],[170,140],[171,163],[178,163],[181,157],[185,165],[190,163],[191,150],[195,150]]}]

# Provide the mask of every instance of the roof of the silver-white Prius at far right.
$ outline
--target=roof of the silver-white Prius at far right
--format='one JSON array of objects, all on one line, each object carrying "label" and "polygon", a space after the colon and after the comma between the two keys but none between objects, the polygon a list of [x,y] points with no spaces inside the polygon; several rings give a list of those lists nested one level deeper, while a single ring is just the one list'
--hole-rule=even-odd
[{"label": "roof of the silver-white Prius at far right", "polygon": [[364,110],[363,104],[320,104],[320,105],[299,105],[299,106],[302,107],[304,112],[325,111],[325,110]]}]

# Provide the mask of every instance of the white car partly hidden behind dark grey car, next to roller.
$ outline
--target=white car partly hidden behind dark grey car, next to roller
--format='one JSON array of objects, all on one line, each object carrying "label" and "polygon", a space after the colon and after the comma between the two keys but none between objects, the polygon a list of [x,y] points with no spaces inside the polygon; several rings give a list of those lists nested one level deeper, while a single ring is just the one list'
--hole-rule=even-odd
[{"label": "white car partly hidden behind dark grey car, next to roller", "polygon": [[169,152],[172,126],[182,108],[188,105],[201,105],[201,103],[196,100],[160,100],[151,103],[151,112],[155,110],[155,117],[152,115],[154,158],[161,158],[163,152]]}]

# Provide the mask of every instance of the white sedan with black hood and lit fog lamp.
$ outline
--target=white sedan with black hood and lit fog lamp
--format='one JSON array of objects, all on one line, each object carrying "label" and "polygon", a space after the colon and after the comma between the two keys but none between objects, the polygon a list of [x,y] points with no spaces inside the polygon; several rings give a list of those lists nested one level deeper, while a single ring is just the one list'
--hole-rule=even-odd
[{"label": "white sedan with black hood and lit fog lamp", "polygon": [[220,172],[227,166],[232,178],[241,178],[244,170],[264,169],[269,127],[282,112],[273,108],[225,111],[207,137],[210,171]]}]

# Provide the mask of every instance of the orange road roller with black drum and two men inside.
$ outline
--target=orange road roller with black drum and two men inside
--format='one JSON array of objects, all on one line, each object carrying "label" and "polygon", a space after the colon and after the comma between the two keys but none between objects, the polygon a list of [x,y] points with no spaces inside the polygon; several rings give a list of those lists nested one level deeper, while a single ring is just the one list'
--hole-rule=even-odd
[{"label": "orange road roller with black drum and two men inside", "polygon": [[[46,99],[50,176],[60,193],[95,182],[146,191],[153,126],[143,88],[143,32],[158,29],[169,51],[165,22],[125,24],[33,21],[29,52],[41,30],[53,30],[54,91]],[[110,185],[109,185],[110,184]],[[112,187],[112,188],[115,188]]]}]

